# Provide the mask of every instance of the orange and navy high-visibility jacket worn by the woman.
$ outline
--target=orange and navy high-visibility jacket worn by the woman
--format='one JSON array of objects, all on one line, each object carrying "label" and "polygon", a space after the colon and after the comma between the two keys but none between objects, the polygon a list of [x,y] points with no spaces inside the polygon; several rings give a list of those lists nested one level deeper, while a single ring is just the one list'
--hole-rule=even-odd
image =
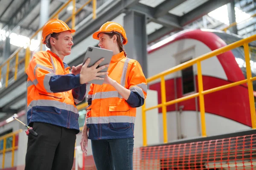
[{"label": "orange and navy high-visibility jacket worn by the woman", "polygon": [[[139,62],[121,52],[112,57],[108,72],[120,85],[146,98],[147,82]],[[136,108],[131,107],[112,85],[91,84],[87,100],[91,100],[86,115],[89,139],[134,137]]]}]

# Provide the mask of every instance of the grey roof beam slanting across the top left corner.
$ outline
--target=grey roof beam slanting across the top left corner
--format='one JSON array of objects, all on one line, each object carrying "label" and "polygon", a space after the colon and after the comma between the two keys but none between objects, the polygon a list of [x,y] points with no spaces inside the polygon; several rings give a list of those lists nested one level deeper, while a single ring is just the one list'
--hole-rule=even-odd
[{"label": "grey roof beam slanting across the top left corner", "polygon": [[9,31],[15,30],[23,20],[30,14],[30,12],[38,5],[40,0],[24,0],[22,5],[16,10],[12,15],[8,24],[6,24],[3,29],[8,27]]}]

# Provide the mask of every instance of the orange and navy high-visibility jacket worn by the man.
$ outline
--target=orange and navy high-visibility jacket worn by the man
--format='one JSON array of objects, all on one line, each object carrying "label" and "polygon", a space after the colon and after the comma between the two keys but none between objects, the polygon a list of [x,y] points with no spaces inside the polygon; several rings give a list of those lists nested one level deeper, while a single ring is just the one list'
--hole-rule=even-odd
[{"label": "orange and navy high-visibility jacket worn by the man", "polygon": [[27,122],[46,122],[76,129],[79,133],[76,104],[84,99],[86,85],[79,75],[51,51],[34,54],[26,69]]}]

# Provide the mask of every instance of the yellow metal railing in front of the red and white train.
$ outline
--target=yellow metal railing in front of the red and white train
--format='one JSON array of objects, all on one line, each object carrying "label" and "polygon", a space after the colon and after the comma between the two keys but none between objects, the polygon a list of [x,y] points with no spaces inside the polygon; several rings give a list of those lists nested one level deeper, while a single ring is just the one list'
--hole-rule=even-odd
[{"label": "yellow metal railing in front of the red and white train", "polygon": [[[175,66],[174,68],[170,68],[169,70],[163,71],[160,74],[157,74],[155,76],[149,77],[147,79],[147,82],[152,82],[154,80],[160,79],[161,80],[161,97],[162,97],[162,103],[158,104],[156,106],[146,108],[145,104],[142,107],[142,125],[143,125],[143,146],[147,146],[147,132],[146,132],[146,111],[152,110],[154,108],[162,108],[163,113],[163,142],[168,142],[167,137],[167,119],[166,119],[166,107],[168,105],[172,105],[178,102],[182,102],[188,99],[192,99],[195,97],[199,97],[199,103],[200,103],[200,112],[201,112],[201,130],[202,130],[202,136],[207,136],[206,134],[206,123],[205,123],[205,110],[204,110],[204,95],[210,94],[215,91],[220,91],[226,88],[231,88],[237,85],[241,85],[244,83],[247,83],[248,85],[248,93],[249,93],[249,100],[250,100],[250,112],[251,112],[251,120],[252,120],[252,128],[256,129],[256,115],[255,115],[255,105],[254,105],[254,96],[253,96],[253,83],[252,81],[256,80],[256,77],[252,78],[251,74],[251,68],[250,68],[250,56],[249,56],[249,46],[248,43],[255,41],[256,35],[253,35],[251,37],[245,38],[243,40],[239,40],[237,42],[234,42],[230,45],[226,45],[222,48],[216,49],[214,51],[211,51],[207,54],[201,55],[200,57],[197,57],[195,59],[191,59],[187,62],[184,62],[180,65]],[[245,56],[245,63],[246,63],[246,72],[247,72],[247,79],[233,82],[228,85],[222,85],[216,88],[212,88],[209,90],[204,91],[203,86],[203,79],[202,79],[202,70],[201,70],[201,61],[208,59],[210,57],[217,56],[219,54],[223,54],[224,52],[230,51],[234,48],[237,48],[239,46],[244,46],[244,56]],[[198,93],[191,94],[188,96],[181,97],[179,99],[171,100],[169,102],[166,102],[166,85],[165,85],[165,79],[164,77],[168,74],[172,74],[176,71],[181,71],[184,68],[190,67],[194,64],[197,64],[197,70],[198,70]]]}]

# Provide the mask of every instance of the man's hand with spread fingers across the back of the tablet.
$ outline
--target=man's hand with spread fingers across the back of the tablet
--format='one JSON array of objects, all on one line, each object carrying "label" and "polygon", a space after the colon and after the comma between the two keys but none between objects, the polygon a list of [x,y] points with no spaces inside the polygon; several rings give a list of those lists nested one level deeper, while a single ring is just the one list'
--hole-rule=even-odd
[{"label": "man's hand with spread fingers across the back of the tablet", "polygon": [[104,60],[104,58],[99,59],[99,61],[97,61],[91,67],[87,67],[90,63],[90,58],[88,58],[86,60],[86,62],[84,63],[84,65],[81,68],[80,84],[90,82],[91,80],[94,80],[94,79],[98,79],[98,80],[103,80],[104,79],[104,78],[98,77],[98,76],[107,75],[108,72],[100,72],[99,73],[99,71],[103,70],[104,68],[107,68],[108,65],[102,65],[101,67],[97,68],[103,60]]}]

